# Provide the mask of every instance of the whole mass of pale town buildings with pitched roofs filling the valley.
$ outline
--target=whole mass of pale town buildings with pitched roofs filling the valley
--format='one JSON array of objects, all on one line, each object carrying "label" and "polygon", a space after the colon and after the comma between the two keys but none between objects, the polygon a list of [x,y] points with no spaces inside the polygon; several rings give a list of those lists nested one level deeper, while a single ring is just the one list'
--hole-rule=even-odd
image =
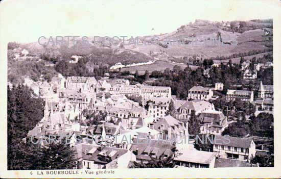
[{"label": "whole mass of pale town buildings with pitched roofs filling the valley", "polygon": [[[45,99],[44,117],[29,131],[28,137],[39,141],[48,134],[71,135],[80,169],[129,168],[134,162],[149,162],[150,156],[157,159],[173,156],[176,167],[225,166],[217,159],[247,164],[255,155],[254,143],[249,139],[230,137],[230,143],[215,143],[214,152],[197,150],[188,141],[193,113],[199,119],[201,134],[220,138],[228,126],[226,116],[209,102],[213,90],[223,90],[223,84],[216,83],[215,88],[194,86],[186,100],[178,100],[172,97],[170,87],[130,85],[123,79],[53,78],[51,83],[40,86],[39,95]],[[239,97],[252,102],[252,95],[252,91],[228,90],[227,99]],[[270,87],[261,83],[259,96],[256,108],[270,111],[265,104],[268,97],[273,100],[273,88],[271,92]],[[142,97],[142,101],[130,100],[131,97]],[[263,101],[261,107],[259,100]],[[167,115],[171,101],[175,111]],[[146,105],[148,110],[144,108]],[[85,111],[102,112],[104,118],[95,125],[87,125],[92,118],[86,118]],[[95,135],[100,136],[98,140]]]}]

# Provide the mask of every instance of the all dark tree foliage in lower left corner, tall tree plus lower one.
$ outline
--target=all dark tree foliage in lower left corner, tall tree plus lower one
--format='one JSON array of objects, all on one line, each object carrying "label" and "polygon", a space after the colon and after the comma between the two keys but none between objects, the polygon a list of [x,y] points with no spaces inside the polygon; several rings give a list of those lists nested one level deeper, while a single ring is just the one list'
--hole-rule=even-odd
[{"label": "all dark tree foliage in lower left corner, tall tree plus lower one", "polygon": [[43,100],[23,85],[8,86],[7,93],[8,170],[73,169],[74,152],[64,144],[42,148],[23,140],[42,119]]}]

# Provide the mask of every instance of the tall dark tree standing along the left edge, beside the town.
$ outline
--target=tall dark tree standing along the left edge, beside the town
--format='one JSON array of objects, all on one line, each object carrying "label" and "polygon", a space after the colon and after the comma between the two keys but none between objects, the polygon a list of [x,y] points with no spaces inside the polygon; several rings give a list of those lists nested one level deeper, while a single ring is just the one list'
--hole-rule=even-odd
[{"label": "tall dark tree standing along the left edge, beside the town", "polygon": [[43,117],[43,101],[24,85],[8,86],[7,90],[8,170],[30,169],[37,148],[21,139]]}]

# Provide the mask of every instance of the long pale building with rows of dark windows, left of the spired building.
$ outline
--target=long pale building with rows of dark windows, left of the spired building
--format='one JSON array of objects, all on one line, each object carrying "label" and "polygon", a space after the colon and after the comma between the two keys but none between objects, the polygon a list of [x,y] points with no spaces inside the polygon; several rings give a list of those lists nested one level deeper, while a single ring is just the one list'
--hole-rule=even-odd
[{"label": "long pale building with rows of dark windows, left of the spired building", "polygon": [[242,101],[248,101],[252,103],[254,100],[254,93],[253,91],[247,91],[247,90],[227,90],[226,99],[227,100],[241,99]]}]

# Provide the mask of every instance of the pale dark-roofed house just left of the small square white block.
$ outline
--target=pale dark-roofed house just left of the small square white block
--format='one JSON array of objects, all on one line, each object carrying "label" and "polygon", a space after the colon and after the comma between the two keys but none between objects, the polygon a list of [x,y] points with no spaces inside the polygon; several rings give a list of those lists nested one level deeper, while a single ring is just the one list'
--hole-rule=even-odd
[{"label": "pale dark-roofed house just left of the small square white block", "polygon": [[189,90],[189,99],[209,100],[214,95],[211,88],[194,86]]}]

